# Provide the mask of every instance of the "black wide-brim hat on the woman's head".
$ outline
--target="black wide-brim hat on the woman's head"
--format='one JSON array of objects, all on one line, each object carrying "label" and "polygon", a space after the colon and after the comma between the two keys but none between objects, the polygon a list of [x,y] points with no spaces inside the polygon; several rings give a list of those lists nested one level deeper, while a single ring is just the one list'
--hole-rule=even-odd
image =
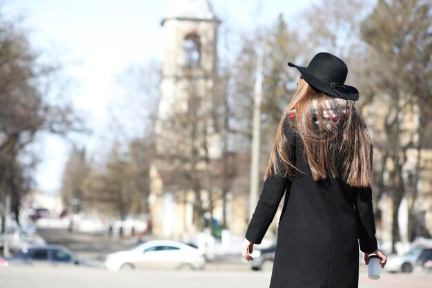
[{"label": "black wide-brim hat on the woman's head", "polygon": [[307,67],[297,66],[288,62],[302,73],[302,78],[315,90],[320,90],[331,97],[356,101],[358,90],[353,86],[344,85],[348,67],[342,59],[327,52],[315,55]]}]

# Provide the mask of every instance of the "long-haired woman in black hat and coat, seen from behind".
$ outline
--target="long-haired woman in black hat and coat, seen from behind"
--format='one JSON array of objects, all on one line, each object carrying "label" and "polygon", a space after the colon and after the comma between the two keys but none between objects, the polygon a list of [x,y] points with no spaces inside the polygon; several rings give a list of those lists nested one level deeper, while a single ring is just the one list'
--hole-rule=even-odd
[{"label": "long-haired woman in black hat and coat, seen from behind", "polygon": [[377,247],[372,207],[371,137],[355,108],[359,93],[344,85],[348,68],[315,55],[277,128],[264,187],[246,231],[242,255],[253,260],[282,197],[271,288],[358,287],[360,249]]}]

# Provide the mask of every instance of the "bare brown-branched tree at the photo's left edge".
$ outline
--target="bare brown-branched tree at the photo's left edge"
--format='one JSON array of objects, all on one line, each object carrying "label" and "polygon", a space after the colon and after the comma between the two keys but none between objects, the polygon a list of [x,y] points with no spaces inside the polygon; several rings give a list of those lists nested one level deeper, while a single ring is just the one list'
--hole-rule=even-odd
[{"label": "bare brown-branched tree at the photo's left edge", "polygon": [[20,161],[26,146],[41,131],[66,135],[82,128],[71,106],[48,102],[44,85],[58,70],[40,64],[19,23],[0,14],[0,186],[3,198],[12,194],[15,213],[30,189],[31,176]]}]

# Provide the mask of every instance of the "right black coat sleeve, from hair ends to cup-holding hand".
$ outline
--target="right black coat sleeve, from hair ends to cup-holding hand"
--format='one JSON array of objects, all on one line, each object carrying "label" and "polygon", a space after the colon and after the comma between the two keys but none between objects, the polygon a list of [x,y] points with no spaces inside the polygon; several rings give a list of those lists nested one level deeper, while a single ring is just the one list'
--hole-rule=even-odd
[{"label": "right black coat sleeve, from hair ends to cup-holding hand", "polygon": [[373,215],[372,189],[355,189],[355,211],[357,213],[357,227],[360,240],[360,250],[364,253],[371,253],[377,247],[375,238],[375,217]]}]

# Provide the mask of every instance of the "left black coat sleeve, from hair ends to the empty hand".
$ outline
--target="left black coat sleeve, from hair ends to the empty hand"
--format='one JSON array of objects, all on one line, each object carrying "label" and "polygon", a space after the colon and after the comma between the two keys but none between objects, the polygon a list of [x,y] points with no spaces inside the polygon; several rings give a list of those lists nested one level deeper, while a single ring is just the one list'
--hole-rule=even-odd
[{"label": "left black coat sleeve, from hair ends to the empty hand", "polygon": [[288,182],[287,178],[275,175],[268,176],[264,181],[257,207],[246,231],[247,240],[255,244],[261,243],[275,217]]}]

